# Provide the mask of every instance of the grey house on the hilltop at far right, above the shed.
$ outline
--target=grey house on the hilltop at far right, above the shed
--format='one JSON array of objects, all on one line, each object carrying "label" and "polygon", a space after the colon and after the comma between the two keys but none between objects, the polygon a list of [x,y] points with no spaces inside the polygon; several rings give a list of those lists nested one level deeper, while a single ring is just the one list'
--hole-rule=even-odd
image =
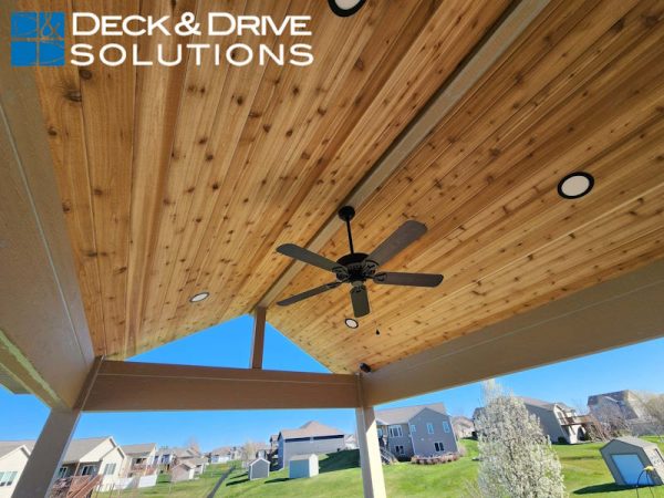
[{"label": "grey house on the hilltop at far right, above the shed", "polygon": [[624,423],[625,428],[635,435],[653,433],[653,423],[634,391],[623,390],[588,396],[588,409],[602,423],[611,419]]}]

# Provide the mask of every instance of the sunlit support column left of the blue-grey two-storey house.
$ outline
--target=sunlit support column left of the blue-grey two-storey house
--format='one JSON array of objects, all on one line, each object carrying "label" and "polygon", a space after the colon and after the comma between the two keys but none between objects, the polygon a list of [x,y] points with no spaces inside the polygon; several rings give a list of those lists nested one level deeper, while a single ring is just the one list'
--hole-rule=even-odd
[{"label": "sunlit support column left of the blue-grey two-storey house", "polygon": [[386,498],[378,432],[373,406],[355,408],[364,498]]}]

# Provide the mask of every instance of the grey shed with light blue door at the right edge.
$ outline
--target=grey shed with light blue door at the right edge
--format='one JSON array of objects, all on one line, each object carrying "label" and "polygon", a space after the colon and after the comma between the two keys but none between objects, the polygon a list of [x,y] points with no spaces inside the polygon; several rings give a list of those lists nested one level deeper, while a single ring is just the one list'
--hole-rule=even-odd
[{"label": "grey shed with light blue door at the right edge", "polygon": [[[620,486],[662,485],[664,457],[656,444],[637,437],[616,437],[600,449],[615,484]],[[644,468],[654,467],[646,473]]]}]

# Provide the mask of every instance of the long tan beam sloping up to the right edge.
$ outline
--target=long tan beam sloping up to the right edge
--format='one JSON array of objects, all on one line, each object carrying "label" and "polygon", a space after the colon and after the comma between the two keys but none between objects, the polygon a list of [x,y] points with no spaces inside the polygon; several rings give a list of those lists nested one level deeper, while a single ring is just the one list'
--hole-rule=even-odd
[{"label": "long tan beam sloping up to the right edge", "polygon": [[361,377],[363,403],[433,391],[664,335],[664,260]]}]

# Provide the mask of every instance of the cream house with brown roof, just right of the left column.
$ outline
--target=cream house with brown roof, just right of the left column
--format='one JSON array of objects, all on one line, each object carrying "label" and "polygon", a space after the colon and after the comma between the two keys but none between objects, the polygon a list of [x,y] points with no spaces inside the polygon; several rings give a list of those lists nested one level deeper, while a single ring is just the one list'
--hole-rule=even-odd
[{"label": "cream house with brown roof, just right of the left column", "polygon": [[126,454],[113,437],[73,439],[64,454],[58,478],[102,476],[98,491],[114,489],[121,479]]}]

